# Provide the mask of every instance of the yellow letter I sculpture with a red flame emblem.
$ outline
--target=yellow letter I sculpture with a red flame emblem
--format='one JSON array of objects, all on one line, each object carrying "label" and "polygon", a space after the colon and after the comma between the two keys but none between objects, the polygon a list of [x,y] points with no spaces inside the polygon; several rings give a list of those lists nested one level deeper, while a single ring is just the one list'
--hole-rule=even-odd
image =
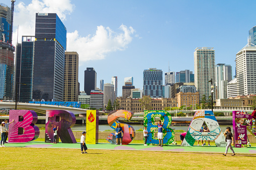
[{"label": "yellow letter I sculpture with a red flame emblem", "polygon": [[86,112],[86,143],[96,144],[99,138],[99,111],[87,110]]}]

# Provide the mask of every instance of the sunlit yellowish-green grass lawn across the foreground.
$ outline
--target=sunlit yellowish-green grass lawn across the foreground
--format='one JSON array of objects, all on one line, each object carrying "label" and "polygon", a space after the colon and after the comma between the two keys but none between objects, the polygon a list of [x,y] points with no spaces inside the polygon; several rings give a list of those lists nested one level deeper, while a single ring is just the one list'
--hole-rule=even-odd
[{"label": "sunlit yellowish-green grass lawn across the foreground", "polygon": [[254,154],[0,148],[4,169],[254,169]]}]

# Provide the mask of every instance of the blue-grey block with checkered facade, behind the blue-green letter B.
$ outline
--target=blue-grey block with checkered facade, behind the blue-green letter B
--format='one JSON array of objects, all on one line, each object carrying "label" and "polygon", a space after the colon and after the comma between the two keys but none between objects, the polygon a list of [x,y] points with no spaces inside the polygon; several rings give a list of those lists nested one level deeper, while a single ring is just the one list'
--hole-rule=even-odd
[{"label": "blue-grey block with checkered facade, behind the blue-green letter B", "polygon": [[162,97],[162,70],[149,68],[143,71],[143,95]]}]

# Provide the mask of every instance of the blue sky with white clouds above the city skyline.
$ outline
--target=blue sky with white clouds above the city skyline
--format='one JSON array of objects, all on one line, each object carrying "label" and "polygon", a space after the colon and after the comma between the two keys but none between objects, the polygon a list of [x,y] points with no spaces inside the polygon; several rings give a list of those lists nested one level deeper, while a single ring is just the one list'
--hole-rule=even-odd
[{"label": "blue sky with white clouds above the city skyline", "polygon": [[[10,0],[1,3],[11,7]],[[215,63],[232,66],[256,25],[256,2],[251,1],[77,1],[17,0],[13,44],[35,35],[35,13],[57,13],[67,29],[67,51],[79,55],[80,91],[84,70],[95,68],[100,80],[118,77],[118,96],[125,77],[143,88],[143,70],[161,69],[194,73],[197,47],[215,50]],[[18,31],[19,26],[19,31]],[[18,36],[17,36],[18,35]],[[164,83],[164,78],[163,78]]]}]

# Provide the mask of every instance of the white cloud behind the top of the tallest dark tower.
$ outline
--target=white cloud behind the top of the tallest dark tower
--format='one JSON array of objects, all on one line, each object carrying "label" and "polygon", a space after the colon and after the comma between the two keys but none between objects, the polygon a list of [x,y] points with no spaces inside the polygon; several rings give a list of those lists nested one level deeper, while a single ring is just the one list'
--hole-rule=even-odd
[{"label": "white cloud behind the top of the tallest dark tower", "polygon": [[67,14],[71,14],[74,5],[70,0],[32,0],[29,5],[20,2],[14,8],[14,33],[13,44],[17,43],[18,25],[19,25],[19,43],[22,36],[35,35],[36,13],[57,13],[63,21]]}]

